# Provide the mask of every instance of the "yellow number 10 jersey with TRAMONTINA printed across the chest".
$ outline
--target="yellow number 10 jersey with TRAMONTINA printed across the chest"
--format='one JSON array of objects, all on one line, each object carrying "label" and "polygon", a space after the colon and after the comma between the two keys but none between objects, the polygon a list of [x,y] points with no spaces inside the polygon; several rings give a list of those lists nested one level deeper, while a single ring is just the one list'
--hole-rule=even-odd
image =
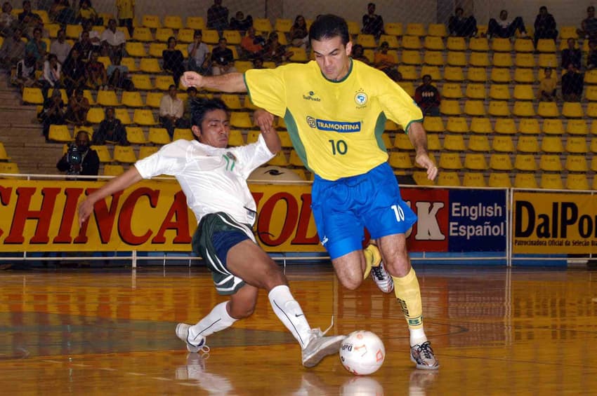
[{"label": "yellow number 10 jersey with TRAMONTINA printed across the chest", "polygon": [[305,166],[327,180],[362,175],[388,161],[381,139],[386,118],[405,130],[423,119],[397,83],[357,60],[341,81],[328,80],[311,61],[250,69],[244,82],[251,102],[284,118]]}]

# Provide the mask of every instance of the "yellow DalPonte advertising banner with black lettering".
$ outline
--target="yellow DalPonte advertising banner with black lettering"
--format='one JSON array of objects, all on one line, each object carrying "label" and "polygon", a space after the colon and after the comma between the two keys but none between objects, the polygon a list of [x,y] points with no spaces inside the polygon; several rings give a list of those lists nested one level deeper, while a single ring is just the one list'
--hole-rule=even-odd
[{"label": "yellow DalPonte advertising banner with black lettering", "polygon": [[514,193],[514,254],[597,252],[597,196]]}]

